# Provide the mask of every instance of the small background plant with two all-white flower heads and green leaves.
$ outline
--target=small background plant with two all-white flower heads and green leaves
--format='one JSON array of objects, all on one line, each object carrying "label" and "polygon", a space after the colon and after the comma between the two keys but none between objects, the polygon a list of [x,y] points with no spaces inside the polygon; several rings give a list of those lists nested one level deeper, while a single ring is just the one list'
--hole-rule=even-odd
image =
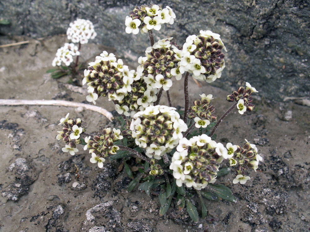
[{"label": "small background plant with two all-white flower heads and green leaves", "polygon": [[[94,25],[89,20],[77,19],[69,24],[67,30],[67,38],[72,43],[65,43],[63,47],[57,50],[56,56],[52,62],[52,66],[58,67],[47,70],[47,73],[52,73],[51,77],[58,79],[65,75],[71,75],[70,81],[75,81],[75,76],[79,70],[84,69],[83,64],[78,65],[78,58],[81,51],[81,45],[87,44],[89,39],[94,39],[97,33],[94,30]],[[78,46],[74,43],[78,43]],[[76,56],[76,61],[73,63],[73,57]]]}]

